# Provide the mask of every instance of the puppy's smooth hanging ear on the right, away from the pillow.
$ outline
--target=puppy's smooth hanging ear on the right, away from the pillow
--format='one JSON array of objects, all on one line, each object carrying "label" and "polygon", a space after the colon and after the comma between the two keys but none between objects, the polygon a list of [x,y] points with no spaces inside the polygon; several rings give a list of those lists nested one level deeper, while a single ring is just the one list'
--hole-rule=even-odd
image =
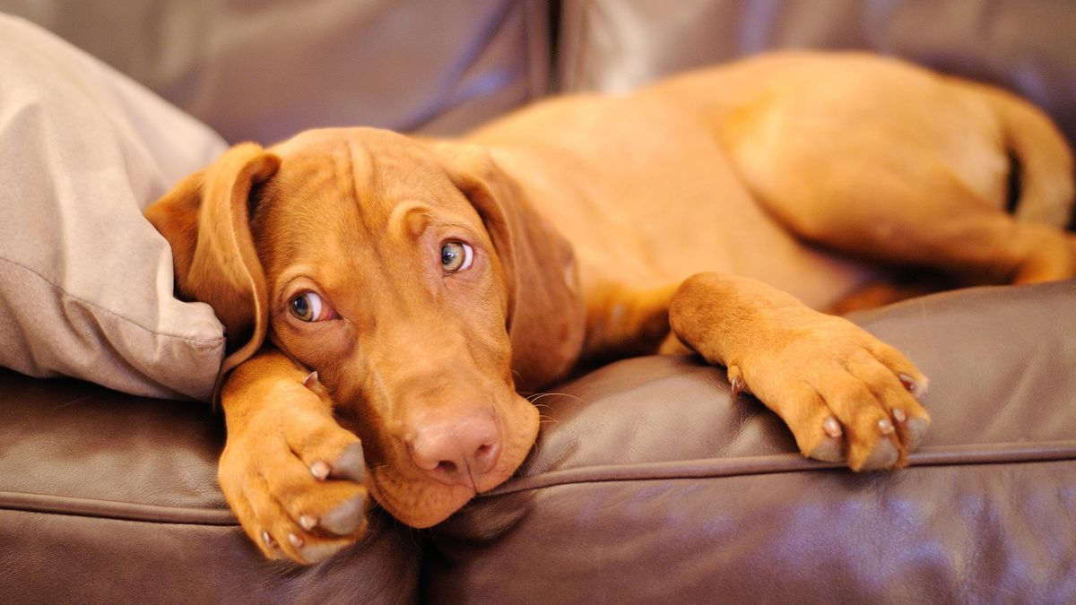
[{"label": "puppy's smooth hanging ear on the right, away from the pillow", "polygon": [[564,378],[582,347],[585,315],[576,259],[563,236],[481,146],[435,143],[449,177],[485,225],[505,271],[516,389]]}]

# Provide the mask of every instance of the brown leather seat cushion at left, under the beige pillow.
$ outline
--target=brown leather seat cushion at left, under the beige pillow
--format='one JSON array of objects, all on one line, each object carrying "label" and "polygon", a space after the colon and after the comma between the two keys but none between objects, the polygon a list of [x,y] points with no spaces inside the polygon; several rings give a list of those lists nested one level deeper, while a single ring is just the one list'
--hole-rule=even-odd
[{"label": "brown leather seat cushion at left, under the beige pillow", "polygon": [[408,603],[420,548],[376,511],[320,565],[267,562],[216,486],[209,406],[0,369],[0,602]]}]

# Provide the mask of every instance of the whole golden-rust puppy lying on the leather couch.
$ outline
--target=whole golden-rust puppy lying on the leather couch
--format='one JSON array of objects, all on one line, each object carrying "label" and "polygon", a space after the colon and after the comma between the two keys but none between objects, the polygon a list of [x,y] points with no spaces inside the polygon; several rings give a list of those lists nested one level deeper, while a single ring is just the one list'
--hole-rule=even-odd
[{"label": "whole golden-rust puppy lying on the leather couch", "polygon": [[804,454],[900,467],[930,424],[926,378],[812,308],[878,262],[1072,277],[1072,197],[1060,135],[1009,95],[780,54],[554,99],[462,141],[238,145],[147,216],[232,344],[228,502],[268,555],[312,562],[362,534],[367,491],[422,527],[507,479],[538,431],[518,391],[663,341],[727,367]]}]

